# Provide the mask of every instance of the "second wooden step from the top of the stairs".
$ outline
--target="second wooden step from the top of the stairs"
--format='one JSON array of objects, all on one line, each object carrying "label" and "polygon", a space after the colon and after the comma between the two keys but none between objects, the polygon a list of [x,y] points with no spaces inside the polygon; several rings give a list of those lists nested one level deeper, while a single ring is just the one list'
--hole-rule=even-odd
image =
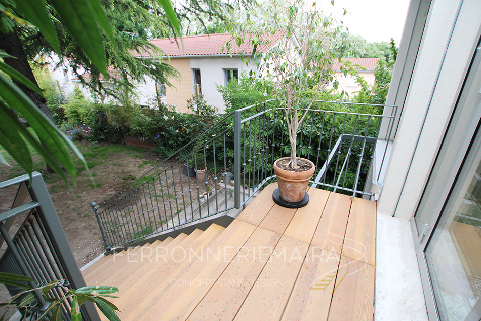
[{"label": "second wooden step from the top of the stairs", "polygon": [[[197,239],[191,241],[189,244],[185,244],[183,248],[186,250],[186,253],[198,253],[219,236],[223,230],[223,227],[212,224],[206,231],[199,235]],[[173,253],[173,255],[175,254],[176,253]],[[179,255],[183,256],[183,253],[177,252],[175,260],[179,262],[175,262],[174,260],[158,262],[159,264],[152,269],[149,274],[135,282],[135,286],[132,286],[128,290],[127,296],[122,297],[121,300],[118,301],[118,304],[116,303],[119,310],[123,312],[123,320],[132,320],[139,311],[142,311],[145,306],[148,306],[152,299],[153,291],[155,291],[157,287],[169,282],[169,276],[171,274],[178,274],[189,264],[191,259],[196,258],[196,256],[193,255],[192,257],[187,256],[185,260],[180,260],[182,258],[180,258]]]}]

